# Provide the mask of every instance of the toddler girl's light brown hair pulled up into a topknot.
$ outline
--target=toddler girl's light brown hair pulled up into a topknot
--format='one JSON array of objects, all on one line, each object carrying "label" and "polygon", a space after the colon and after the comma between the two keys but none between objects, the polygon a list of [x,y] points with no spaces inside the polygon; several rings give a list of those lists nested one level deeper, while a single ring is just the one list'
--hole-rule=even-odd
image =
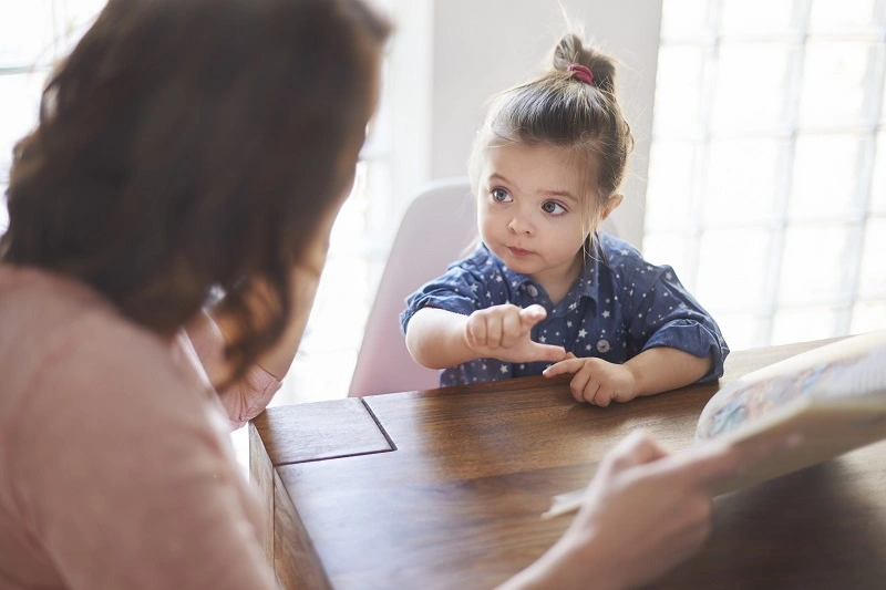
[{"label": "toddler girl's light brown hair pulled up into a topknot", "polygon": [[[521,142],[562,147],[585,169],[597,166],[597,186],[588,188],[604,199],[618,190],[633,137],[616,99],[614,61],[585,45],[578,34],[569,33],[554,48],[552,62],[549,71],[494,99],[471,154],[468,167],[475,189],[484,152]],[[591,83],[569,71],[570,64],[590,70]],[[594,198],[585,203],[588,219],[594,219],[601,203]]]}]

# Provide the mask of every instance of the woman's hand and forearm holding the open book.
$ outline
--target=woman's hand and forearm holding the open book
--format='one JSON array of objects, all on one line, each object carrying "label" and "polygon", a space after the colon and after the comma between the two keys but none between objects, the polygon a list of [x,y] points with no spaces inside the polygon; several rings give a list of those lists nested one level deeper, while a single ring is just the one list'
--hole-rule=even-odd
[{"label": "woman's hand and forearm holding the open book", "polygon": [[668,454],[633,433],[601,462],[571,525],[502,588],[636,588],[694,555],[712,529],[712,489],[738,453],[708,444]]}]

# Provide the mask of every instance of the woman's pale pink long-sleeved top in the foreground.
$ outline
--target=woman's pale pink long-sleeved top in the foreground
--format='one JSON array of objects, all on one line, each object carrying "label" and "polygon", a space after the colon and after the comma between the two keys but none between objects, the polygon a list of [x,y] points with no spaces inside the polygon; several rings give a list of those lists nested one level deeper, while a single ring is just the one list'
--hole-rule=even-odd
[{"label": "woman's pale pink long-sleeved top in the foreground", "polygon": [[35,270],[0,266],[0,590],[276,588],[228,432],[279,381],[216,394],[217,329],[164,341]]}]

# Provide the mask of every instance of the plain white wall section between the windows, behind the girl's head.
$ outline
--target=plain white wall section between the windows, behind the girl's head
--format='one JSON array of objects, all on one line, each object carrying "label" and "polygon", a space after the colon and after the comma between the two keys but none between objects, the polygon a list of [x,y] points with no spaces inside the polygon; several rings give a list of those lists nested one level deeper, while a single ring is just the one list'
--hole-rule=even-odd
[{"label": "plain white wall section between the windows, behind the girl's head", "polygon": [[[637,142],[617,211],[642,240],[661,0],[562,0],[571,20],[621,62],[618,92]],[[566,32],[557,0],[436,0],[433,8],[431,177],[466,174],[474,133],[493,94],[539,73]]]}]

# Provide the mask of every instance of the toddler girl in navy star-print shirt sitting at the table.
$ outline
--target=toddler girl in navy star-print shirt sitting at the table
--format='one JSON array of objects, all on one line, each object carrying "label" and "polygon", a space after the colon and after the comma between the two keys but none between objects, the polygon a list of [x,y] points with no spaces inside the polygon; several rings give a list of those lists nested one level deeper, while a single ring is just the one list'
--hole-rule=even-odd
[{"label": "toddler girl in navy star-print shirt sitting at the table", "polygon": [[482,242],[408,298],[410,353],[443,386],[571,373],[576,400],[601,406],[721,376],[729,349],[673,269],[597,231],[633,144],[612,61],[568,34],[553,62],[477,134]]}]

